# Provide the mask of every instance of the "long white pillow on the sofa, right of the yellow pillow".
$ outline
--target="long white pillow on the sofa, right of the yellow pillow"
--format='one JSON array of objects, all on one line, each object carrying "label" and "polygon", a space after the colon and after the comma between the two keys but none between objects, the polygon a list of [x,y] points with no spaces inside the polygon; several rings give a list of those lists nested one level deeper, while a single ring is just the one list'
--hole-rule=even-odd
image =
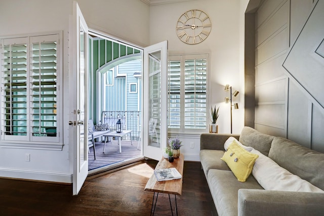
[{"label": "long white pillow on the sofa, right of the yellow pillow", "polygon": [[292,174],[287,169],[282,168],[258,150],[253,149],[251,153],[259,155],[259,158],[254,163],[252,175],[264,189],[274,191],[324,192],[306,180]]}]

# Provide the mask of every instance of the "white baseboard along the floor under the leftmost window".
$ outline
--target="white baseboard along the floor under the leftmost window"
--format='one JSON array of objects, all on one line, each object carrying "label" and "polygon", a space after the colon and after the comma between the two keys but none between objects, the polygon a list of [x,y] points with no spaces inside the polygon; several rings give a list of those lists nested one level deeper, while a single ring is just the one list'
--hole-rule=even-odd
[{"label": "white baseboard along the floor under the leftmost window", "polygon": [[69,184],[73,182],[71,174],[22,169],[0,168],[0,177]]}]

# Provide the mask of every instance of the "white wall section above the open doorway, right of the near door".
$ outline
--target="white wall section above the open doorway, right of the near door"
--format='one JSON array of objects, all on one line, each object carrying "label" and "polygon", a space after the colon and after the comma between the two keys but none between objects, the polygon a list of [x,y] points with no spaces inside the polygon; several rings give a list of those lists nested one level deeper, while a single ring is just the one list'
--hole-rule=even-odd
[{"label": "white wall section above the open doorway, right of the near door", "polygon": [[140,0],[77,0],[77,3],[89,28],[137,46],[149,46],[149,6]]}]

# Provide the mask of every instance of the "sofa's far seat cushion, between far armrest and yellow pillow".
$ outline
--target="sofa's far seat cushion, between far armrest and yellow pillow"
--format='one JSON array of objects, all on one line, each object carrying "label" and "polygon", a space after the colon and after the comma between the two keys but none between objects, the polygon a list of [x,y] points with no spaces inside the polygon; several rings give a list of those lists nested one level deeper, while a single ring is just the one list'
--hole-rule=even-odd
[{"label": "sofa's far seat cushion, between far armrest and yellow pillow", "polygon": [[207,178],[210,169],[230,170],[228,165],[220,158],[224,155],[222,150],[200,150],[200,162]]}]

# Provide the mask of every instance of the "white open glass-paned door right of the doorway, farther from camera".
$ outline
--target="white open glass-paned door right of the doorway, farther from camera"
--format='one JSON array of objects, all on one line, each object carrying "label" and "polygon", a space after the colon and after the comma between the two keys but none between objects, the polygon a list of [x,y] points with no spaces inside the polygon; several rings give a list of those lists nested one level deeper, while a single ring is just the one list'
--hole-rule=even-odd
[{"label": "white open glass-paned door right of the doorway, farther from camera", "polygon": [[143,63],[143,155],[160,160],[168,136],[168,41],[145,48]]}]

